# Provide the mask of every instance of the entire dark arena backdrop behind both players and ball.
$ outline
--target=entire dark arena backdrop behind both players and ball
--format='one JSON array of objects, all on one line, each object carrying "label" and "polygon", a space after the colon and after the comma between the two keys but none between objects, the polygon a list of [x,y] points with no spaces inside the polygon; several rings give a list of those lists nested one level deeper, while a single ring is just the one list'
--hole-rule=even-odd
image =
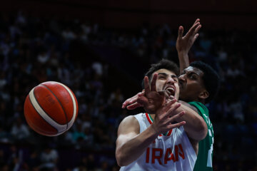
[{"label": "entire dark arena backdrop behind both players and ball", "polygon": [[[190,61],[221,76],[207,105],[213,170],[256,170],[256,7],[230,0],[2,2],[0,170],[119,170],[116,130],[142,111],[121,104],[141,90],[151,63],[178,63],[178,26],[187,31],[197,18],[203,27]],[[66,84],[79,102],[74,126],[54,138],[34,133],[24,118],[26,95],[44,81]]]}]

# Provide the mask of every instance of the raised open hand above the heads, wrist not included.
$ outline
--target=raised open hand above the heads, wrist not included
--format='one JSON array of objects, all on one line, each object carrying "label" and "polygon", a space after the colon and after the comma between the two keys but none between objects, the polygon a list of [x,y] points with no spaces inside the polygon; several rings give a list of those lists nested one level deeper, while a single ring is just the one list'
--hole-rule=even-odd
[{"label": "raised open hand above the heads, wrist not included", "polygon": [[176,50],[178,53],[188,54],[196,38],[199,36],[198,31],[201,28],[200,19],[196,19],[193,26],[189,29],[185,36],[183,36],[183,26],[178,28],[178,38],[176,41]]}]

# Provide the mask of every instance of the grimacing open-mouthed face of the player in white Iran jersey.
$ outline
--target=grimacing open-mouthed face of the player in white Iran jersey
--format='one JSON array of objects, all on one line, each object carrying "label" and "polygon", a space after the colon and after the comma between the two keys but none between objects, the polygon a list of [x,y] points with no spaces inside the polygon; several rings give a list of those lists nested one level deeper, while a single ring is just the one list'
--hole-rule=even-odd
[{"label": "grimacing open-mouthed face of the player in white Iran jersey", "polygon": [[156,90],[165,90],[171,98],[178,99],[179,86],[178,77],[176,74],[166,69],[159,69],[155,73],[158,73],[156,80]]}]

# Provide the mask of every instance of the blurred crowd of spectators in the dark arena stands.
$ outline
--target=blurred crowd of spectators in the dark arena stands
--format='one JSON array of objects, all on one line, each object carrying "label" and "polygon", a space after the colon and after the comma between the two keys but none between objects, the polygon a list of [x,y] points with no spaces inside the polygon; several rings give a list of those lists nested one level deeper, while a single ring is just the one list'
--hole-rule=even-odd
[{"label": "blurred crowd of spectators in the dark arena stands", "polygon": [[[0,170],[119,170],[116,131],[131,114],[121,104],[133,95],[125,93],[128,87],[121,87],[119,79],[124,73],[126,80],[128,71],[93,52],[111,46],[113,56],[125,48],[131,58],[148,64],[161,58],[178,62],[176,36],[176,28],[166,24],[128,31],[57,16],[2,13]],[[257,170],[256,43],[254,32],[203,29],[189,54],[191,61],[205,61],[221,76],[221,90],[208,104],[214,170]],[[54,138],[38,135],[24,118],[26,95],[44,81],[66,84],[79,102],[74,126]]]}]

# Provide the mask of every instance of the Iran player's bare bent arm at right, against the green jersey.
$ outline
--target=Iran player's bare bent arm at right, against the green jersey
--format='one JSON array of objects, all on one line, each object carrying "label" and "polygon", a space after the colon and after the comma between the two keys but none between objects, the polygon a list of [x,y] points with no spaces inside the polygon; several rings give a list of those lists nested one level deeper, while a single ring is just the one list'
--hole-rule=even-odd
[{"label": "Iran player's bare bent arm at right, against the green jersey", "polygon": [[178,112],[185,111],[186,113],[178,118],[176,121],[186,121],[184,125],[184,129],[188,134],[188,137],[193,138],[193,140],[203,140],[207,134],[207,125],[204,122],[203,118],[201,118],[196,111],[188,106],[181,104],[181,107],[177,109]]}]

